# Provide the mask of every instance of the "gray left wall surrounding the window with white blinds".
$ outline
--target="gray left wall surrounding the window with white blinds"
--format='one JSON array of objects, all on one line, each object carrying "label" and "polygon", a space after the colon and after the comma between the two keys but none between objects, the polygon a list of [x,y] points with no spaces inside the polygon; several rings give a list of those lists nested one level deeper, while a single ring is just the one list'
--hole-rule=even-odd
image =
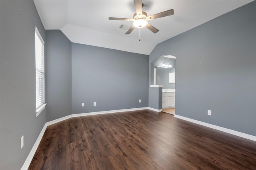
[{"label": "gray left wall surrounding the window with white blinds", "polygon": [[32,0],[0,0],[1,170],[20,170],[46,123],[45,110],[36,117],[35,26],[45,40]]}]

